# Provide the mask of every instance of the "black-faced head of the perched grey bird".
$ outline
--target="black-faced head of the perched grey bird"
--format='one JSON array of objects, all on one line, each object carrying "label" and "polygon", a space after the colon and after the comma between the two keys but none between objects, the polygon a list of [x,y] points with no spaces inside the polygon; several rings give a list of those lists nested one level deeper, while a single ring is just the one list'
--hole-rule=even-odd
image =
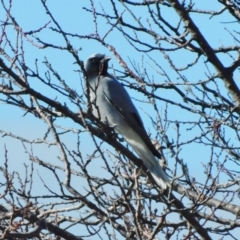
[{"label": "black-faced head of the perched grey bird", "polygon": [[108,61],[110,57],[104,54],[92,54],[84,63],[88,77],[106,75],[108,69]]}]

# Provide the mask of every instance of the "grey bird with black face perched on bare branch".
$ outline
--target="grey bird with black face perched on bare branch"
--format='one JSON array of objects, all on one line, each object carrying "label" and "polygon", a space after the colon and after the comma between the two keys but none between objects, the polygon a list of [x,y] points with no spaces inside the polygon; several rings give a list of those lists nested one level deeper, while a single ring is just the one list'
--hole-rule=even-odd
[{"label": "grey bird with black face perched on bare branch", "polygon": [[123,137],[142,159],[158,186],[167,189],[170,180],[155,158],[162,159],[162,156],[152,144],[128,92],[108,73],[110,59],[97,53],[84,62],[92,113]]}]

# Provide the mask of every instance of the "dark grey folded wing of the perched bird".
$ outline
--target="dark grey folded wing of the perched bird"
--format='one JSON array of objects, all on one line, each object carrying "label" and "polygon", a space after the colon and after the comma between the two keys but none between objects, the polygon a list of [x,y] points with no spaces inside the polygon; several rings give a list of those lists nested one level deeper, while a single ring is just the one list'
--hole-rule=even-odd
[{"label": "dark grey folded wing of the perched bird", "polygon": [[106,81],[106,86],[104,87],[104,96],[129,126],[142,138],[153,155],[161,158],[161,154],[149,139],[144,129],[142,119],[125,88],[116,79],[109,78],[109,81]]}]

